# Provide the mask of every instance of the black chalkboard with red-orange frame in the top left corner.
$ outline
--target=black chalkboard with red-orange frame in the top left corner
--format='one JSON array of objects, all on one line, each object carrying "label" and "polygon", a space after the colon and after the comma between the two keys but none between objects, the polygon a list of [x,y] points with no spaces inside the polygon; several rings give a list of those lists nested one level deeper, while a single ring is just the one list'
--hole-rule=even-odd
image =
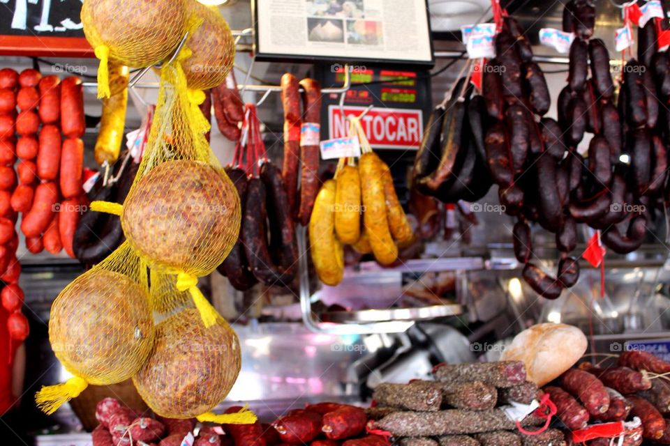
[{"label": "black chalkboard with red-orange frame in the top left corner", "polygon": [[0,0],[0,54],[92,56],[82,0]]}]

